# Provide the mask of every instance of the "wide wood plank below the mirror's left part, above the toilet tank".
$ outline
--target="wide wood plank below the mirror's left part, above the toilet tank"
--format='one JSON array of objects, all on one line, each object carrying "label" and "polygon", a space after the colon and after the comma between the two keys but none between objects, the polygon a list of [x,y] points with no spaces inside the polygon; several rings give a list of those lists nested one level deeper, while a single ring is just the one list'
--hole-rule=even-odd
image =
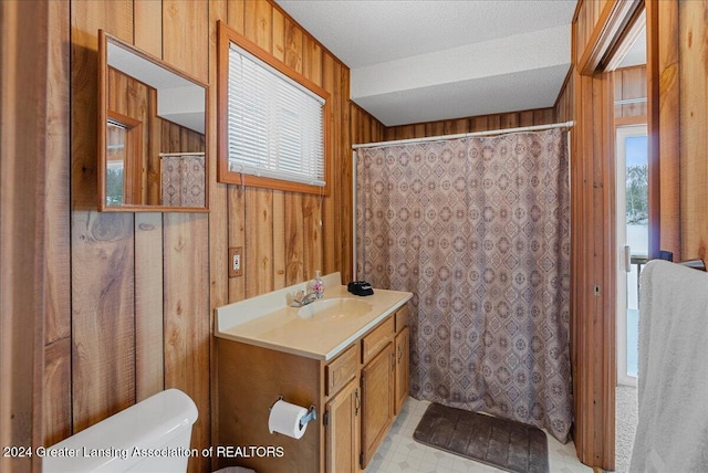
[{"label": "wide wood plank below the mirror's left part, above the toilet tank", "polygon": [[81,431],[135,402],[133,214],[74,211],[73,424]]}]

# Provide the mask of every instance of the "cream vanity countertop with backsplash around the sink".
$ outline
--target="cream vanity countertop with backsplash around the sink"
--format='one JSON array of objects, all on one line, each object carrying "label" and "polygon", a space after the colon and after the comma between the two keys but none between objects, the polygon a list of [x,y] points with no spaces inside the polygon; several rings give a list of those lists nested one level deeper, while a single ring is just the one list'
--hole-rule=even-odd
[{"label": "cream vanity countertop with backsplash around the sink", "polygon": [[301,318],[299,307],[287,301],[305,283],[217,308],[216,336],[309,358],[330,360],[381,320],[396,312],[412,293],[374,288],[369,296],[356,296],[341,285],[340,273],[323,277],[324,296],[309,306],[332,298],[358,299],[362,314],[355,317]]}]

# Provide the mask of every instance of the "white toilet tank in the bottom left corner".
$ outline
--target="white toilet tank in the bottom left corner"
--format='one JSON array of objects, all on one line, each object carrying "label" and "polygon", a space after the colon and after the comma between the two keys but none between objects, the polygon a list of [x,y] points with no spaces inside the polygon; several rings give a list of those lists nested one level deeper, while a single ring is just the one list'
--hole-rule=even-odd
[{"label": "white toilet tank in the bottom left corner", "polygon": [[49,446],[42,471],[185,472],[197,407],[178,389],[167,389]]}]

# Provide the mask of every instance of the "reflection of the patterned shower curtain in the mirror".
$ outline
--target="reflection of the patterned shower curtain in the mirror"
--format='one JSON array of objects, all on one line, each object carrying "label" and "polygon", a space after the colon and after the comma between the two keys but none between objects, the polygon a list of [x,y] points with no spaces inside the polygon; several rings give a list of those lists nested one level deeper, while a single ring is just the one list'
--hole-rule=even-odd
[{"label": "reflection of the patterned shower curtain in the mirror", "polygon": [[162,157],[163,206],[204,207],[204,156],[189,154]]}]

